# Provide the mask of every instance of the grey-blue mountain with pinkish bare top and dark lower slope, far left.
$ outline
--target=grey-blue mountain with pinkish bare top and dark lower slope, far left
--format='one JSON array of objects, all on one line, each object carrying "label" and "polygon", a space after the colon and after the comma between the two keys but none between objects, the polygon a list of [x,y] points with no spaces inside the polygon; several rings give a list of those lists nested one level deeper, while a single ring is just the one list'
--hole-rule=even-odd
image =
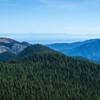
[{"label": "grey-blue mountain with pinkish bare top and dark lower slope, far left", "polygon": [[0,38],[0,61],[12,60],[29,45],[30,44],[27,42],[18,42],[9,38]]}]

